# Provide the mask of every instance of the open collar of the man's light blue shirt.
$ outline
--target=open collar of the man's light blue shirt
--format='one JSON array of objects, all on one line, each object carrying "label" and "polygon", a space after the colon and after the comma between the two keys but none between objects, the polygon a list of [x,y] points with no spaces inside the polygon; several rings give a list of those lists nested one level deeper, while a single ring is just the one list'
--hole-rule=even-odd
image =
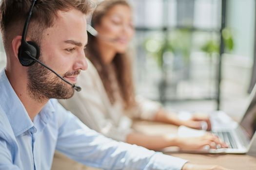
[{"label": "open collar of the man's light blue shirt", "polygon": [[[12,88],[4,69],[0,72],[0,105],[10,122],[15,136],[19,136],[34,127],[34,123],[29,118],[24,105]],[[42,130],[54,111],[55,109],[52,102],[47,102],[39,115],[36,116],[39,118],[35,117],[35,119],[39,119],[37,122],[37,128]],[[35,133],[36,130],[33,130],[32,133],[33,132]]]}]

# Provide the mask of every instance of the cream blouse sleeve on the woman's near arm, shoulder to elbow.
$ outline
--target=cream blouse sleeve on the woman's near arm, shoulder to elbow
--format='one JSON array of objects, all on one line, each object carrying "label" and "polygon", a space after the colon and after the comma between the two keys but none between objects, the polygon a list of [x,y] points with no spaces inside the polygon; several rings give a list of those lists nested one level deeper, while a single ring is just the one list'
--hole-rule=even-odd
[{"label": "cream blouse sleeve on the woman's near arm, shoulder to elbow", "polygon": [[[98,72],[91,63],[88,70],[81,71],[78,85],[82,91],[68,100],[59,100],[61,105],[89,128],[115,140],[125,141],[126,136],[133,131],[131,122],[129,124],[127,117],[125,119],[122,110],[112,108]],[[113,120],[117,117],[121,117],[121,121]]]}]

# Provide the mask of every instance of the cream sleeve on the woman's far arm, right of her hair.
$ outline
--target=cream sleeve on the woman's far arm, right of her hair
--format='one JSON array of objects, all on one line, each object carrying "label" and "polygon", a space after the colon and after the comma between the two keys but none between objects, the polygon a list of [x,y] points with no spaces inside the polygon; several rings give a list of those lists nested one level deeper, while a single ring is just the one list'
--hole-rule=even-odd
[{"label": "cream sleeve on the woman's far arm, right of her hair", "polygon": [[128,111],[128,115],[132,118],[153,120],[162,107],[159,102],[145,99],[141,96],[136,96],[135,106]]}]

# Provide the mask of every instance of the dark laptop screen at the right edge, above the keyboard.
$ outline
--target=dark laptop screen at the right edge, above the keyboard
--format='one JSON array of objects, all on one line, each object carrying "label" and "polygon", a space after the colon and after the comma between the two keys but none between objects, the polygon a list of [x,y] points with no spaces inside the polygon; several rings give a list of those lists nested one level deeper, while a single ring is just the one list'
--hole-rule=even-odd
[{"label": "dark laptop screen at the right edge, above the keyboard", "polygon": [[255,91],[256,90],[254,89],[253,90],[254,97],[252,98],[252,101],[249,104],[249,107],[246,110],[246,113],[244,114],[244,117],[240,122],[240,125],[247,132],[247,135],[250,139],[252,139],[256,131],[256,93]]}]

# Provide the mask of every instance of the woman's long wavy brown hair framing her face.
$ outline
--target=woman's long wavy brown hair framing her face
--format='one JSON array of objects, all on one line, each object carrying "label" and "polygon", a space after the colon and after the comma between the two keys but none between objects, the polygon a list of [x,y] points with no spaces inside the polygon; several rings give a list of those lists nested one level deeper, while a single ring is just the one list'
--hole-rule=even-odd
[{"label": "woman's long wavy brown hair framing her face", "polygon": [[[101,18],[115,5],[125,5],[131,8],[126,0],[104,0],[98,4],[92,15],[92,25],[98,25]],[[88,34],[88,45],[85,51],[86,57],[93,63],[98,70],[98,74],[108,94],[110,102],[113,104],[116,101],[113,85],[110,79],[110,64],[105,64],[102,60],[103,57],[97,48],[96,38]],[[124,108],[131,108],[135,104],[135,91],[132,78],[131,61],[127,53],[117,53],[112,60],[114,66],[115,76],[118,80],[119,93],[124,102]]]}]

